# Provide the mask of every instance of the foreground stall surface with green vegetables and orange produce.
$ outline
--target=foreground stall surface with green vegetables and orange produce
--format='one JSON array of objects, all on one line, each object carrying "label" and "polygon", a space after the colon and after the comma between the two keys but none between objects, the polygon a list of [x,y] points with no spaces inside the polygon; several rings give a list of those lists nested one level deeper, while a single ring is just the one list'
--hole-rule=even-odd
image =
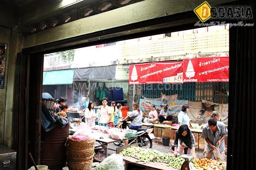
[{"label": "foreground stall surface with green vegetables and orange produce", "polygon": [[[183,170],[185,161],[184,155],[175,157],[172,153],[162,153],[135,146],[128,147],[119,154],[123,156],[123,161],[140,167],[151,168],[151,170]],[[226,162],[219,160],[199,158],[190,161],[193,163],[190,170],[223,170],[226,168]]]}]

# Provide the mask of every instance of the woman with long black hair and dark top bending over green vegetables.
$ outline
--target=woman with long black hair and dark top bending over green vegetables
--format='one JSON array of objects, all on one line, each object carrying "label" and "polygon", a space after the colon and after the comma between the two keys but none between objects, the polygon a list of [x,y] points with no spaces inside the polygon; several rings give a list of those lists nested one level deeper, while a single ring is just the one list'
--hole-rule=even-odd
[{"label": "woman with long black hair and dark top bending over green vegetables", "polygon": [[188,125],[184,124],[179,127],[173,146],[174,156],[177,156],[177,153],[184,154],[184,148],[188,147],[187,154],[192,154],[195,159],[197,158],[195,154],[195,139]]}]

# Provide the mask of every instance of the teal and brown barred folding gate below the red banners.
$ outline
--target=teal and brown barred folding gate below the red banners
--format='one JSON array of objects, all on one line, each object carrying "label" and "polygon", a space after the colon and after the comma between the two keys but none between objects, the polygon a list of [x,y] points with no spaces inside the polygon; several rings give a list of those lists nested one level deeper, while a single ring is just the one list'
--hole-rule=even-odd
[{"label": "teal and brown barred folding gate below the red banners", "polygon": [[215,103],[228,103],[228,82],[191,82],[183,84],[136,85],[135,102],[139,99],[157,99],[177,94],[178,100],[201,102],[203,99]]}]

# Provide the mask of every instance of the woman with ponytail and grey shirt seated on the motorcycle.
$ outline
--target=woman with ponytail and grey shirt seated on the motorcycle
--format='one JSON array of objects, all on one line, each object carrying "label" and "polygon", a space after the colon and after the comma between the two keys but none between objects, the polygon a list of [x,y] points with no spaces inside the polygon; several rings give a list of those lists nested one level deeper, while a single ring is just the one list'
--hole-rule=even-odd
[{"label": "woman with ponytail and grey shirt seated on the motorcycle", "polygon": [[140,111],[138,103],[133,103],[132,108],[133,111],[131,112],[131,114],[129,114],[129,116],[126,116],[124,119],[119,120],[119,122],[124,122],[129,118],[132,118],[133,120],[131,121],[129,129],[137,130],[142,127],[143,113],[142,111]]}]

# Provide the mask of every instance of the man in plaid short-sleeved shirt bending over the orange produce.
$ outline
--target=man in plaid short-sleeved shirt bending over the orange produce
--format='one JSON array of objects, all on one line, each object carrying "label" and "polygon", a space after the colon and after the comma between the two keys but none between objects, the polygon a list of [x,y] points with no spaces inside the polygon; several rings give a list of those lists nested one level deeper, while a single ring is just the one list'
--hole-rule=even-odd
[{"label": "man in plaid short-sleeved shirt bending over the orange produce", "polygon": [[213,118],[208,120],[208,124],[204,125],[202,138],[205,139],[206,148],[204,150],[204,157],[211,159],[214,153],[217,158],[224,161],[225,158],[225,142],[227,136],[227,127],[222,123],[217,123]]}]

